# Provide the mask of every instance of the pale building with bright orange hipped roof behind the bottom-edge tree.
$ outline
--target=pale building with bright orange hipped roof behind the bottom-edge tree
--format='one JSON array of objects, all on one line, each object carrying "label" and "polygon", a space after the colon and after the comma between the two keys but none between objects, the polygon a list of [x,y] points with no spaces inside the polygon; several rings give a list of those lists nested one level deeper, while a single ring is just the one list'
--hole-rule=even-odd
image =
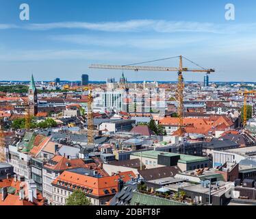
[{"label": "pale building with bright orange hipped roof behind the bottom-edge tree", "polygon": [[118,192],[118,183],[136,177],[133,172],[120,172],[110,177],[101,177],[94,172],[85,174],[84,170],[66,170],[57,177],[53,185],[53,205],[65,205],[66,198],[74,190],[81,189],[90,198],[92,205],[106,205]]}]

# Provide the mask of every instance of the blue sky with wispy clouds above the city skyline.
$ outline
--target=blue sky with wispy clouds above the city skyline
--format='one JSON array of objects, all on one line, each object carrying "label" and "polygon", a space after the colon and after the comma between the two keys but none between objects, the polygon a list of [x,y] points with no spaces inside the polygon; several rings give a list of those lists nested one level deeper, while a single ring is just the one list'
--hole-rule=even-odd
[{"label": "blue sky with wispy clouds above the city skyline", "polygon": [[[19,19],[21,3],[29,4],[29,21]],[[235,5],[235,21],[225,20],[227,3]],[[211,80],[256,81],[255,12],[255,0],[1,0],[0,80],[26,80],[31,73],[36,80],[78,80],[82,73],[105,80],[122,72],[88,66],[184,55],[216,68]],[[125,75],[129,80],[177,79],[175,73]],[[203,75],[186,73],[185,80],[202,81]]]}]

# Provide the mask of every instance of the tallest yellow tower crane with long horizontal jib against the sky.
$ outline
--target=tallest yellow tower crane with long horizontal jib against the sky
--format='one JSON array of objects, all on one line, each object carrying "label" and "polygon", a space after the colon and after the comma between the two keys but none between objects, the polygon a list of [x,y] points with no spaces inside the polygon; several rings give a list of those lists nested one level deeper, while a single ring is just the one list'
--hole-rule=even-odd
[{"label": "tallest yellow tower crane with long horizontal jib against the sky", "polygon": [[[173,67],[163,67],[163,66],[137,66],[137,64],[144,64],[149,62],[158,62],[162,60],[170,60],[172,58],[179,57],[179,68],[173,68]],[[183,59],[188,60],[186,57],[183,57],[182,55],[175,56],[175,57],[168,57],[161,60],[153,60],[149,62],[140,62],[136,64],[128,64],[124,66],[118,66],[118,65],[104,65],[104,64],[91,64],[89,68],[99,68],[99,69],[114,69],[114,70],[149,70],[149,71],[168,71],[168,72],[178,72],[178,85],[177,85],[177,102],[178,102],[178,116],[179,116],[179,136],[183,136],[183,92],[184,92],[184,82],[183,82],[183,72],[192,72],[192,73],[214,73],[215,70],[213,68],[206,69],[198,64],[192,62],[191,60],[188,60],[192,64],[195,64],[200,69],[193,69],[193,68],[184,68],[183,67]]]}]

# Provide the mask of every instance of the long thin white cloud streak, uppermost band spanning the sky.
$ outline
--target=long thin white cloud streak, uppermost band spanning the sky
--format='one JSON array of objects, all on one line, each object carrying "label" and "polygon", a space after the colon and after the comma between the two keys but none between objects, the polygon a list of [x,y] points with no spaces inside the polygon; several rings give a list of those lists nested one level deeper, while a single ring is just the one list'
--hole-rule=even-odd
[{"label": "long thin white cloud streak, uppermost band spanning the sky", "polygon": [[29,25],[15,26],[0,24],[0,29],[21,28],[34,31],[46,31],[51,29],[88,29],[92,31],[107,32],[132,32],[132,31],[156,31],[159,33],[175,32],[201,32],[214,34],[234,34],[243,31],[255,31],[256,23],[202,23],[188,21],[166,20],[130,20],[115,22],[59,22],[59,23],[31,23]]}]

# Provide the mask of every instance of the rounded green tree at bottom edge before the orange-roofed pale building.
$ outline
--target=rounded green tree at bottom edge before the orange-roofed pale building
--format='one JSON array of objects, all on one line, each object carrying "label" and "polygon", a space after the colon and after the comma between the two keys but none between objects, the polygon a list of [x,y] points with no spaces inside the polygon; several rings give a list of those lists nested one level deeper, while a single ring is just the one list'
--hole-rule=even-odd
[{"label": "rounded green tree at bottom edge before the orange-roofed pale building", "polygon": [[86,194],[82,190],[75,190],[66,199],[66,205],[92,205],[90,199],[86,197]]}]

